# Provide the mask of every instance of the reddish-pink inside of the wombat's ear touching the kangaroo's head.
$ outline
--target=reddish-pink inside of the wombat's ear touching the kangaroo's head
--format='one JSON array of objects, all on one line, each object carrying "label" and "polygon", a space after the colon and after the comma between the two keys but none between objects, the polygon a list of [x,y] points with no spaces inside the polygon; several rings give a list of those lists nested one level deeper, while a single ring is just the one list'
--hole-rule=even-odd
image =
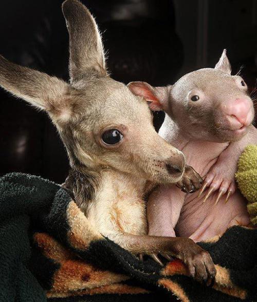
[{"label": "reddish-pink inside of the wombat's ear touching the kangaroo's head", "polygon": [[146,82],[131,82],[127,84],[127,87],[134,93],[135,96],[144,98],[149,107],[153,111],[163,110],[162,105],[157,97],[158,87],[152,87]]}]

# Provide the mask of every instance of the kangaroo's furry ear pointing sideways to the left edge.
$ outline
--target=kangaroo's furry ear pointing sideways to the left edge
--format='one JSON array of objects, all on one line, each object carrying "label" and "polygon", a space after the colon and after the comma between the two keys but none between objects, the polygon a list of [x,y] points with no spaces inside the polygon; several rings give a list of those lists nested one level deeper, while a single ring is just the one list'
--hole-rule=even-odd
[{"label": "kangaroo's furry ear pointing sideways to the left edge", "polygon": [[67,83],[46,73],[11,63],[2,55],[0,86],[53,116],[67,114]]}]

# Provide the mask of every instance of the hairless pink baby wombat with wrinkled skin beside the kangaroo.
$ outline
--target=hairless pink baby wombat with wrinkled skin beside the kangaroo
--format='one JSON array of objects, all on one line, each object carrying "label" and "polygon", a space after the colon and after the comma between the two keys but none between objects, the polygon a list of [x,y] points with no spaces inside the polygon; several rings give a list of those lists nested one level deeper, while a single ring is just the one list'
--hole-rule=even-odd
[{"label": "hairless pink baby wombat with wrinkled skin beside the kangaroo", "polygon": [[[257,143],[257,129],[247,85],[239,75],[231,75],[226,50],[215,68],[190,72],[174,85],[129,85],[155,109],[166,111],[160,136],[182,150],[187,163],[208,175],[206,184],[211,184],[207,194],[206,184],[199,194],[190,195],[175,186],[157,188],[148,202],[149,234],[201,241],[223,234],[229,226],[248,225],[246,200],[235,190],[234,173],[244,147]],[[213,169],[219,176],[209,182]]]}]

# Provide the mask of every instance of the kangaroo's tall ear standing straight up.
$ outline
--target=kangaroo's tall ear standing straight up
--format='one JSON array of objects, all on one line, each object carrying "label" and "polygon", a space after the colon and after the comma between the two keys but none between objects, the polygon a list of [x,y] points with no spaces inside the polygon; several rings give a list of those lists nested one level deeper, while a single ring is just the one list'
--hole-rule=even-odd
[{"label": "kangaroo's tall ear standing straight up", "polygon": [[69,31],[71,81],[81,79],[88,73],[105,75],[101,36],[93,16],[77,0],[66,0],[62,9]]}]

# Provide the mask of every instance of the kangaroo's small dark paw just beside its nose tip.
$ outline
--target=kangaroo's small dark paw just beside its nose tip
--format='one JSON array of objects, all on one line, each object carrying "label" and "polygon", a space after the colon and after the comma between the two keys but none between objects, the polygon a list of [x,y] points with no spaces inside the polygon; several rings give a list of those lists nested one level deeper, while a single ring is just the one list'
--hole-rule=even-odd
[{"label": "kangaroo's small dark paw just beside its nose tip", "polygon": [[176,183],[176,186],[185,193],[194,193],[201,187],[202,183],[203,179],[200,175],[191,166],[186,165],[183,177]]}]

